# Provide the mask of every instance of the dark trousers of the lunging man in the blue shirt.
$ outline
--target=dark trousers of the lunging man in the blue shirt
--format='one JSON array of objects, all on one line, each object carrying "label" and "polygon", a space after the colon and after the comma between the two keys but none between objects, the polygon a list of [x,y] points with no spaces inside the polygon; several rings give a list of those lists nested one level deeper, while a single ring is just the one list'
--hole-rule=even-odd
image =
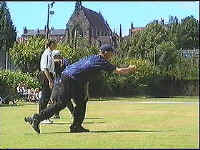
[{"label": "dark trousers of the lunging man in the blue shirt", "polygon": [[80,127],[85,119],[86,105],[88,101],[88,82],[78,82],[71,78],[61,77],[60,93],[56,95],[57,102],[41,111],[38,120],[43,121],[50,118],[55,113],[64,109],[73,98],[76,104],[74,109],[74,120],[71,127]]}]

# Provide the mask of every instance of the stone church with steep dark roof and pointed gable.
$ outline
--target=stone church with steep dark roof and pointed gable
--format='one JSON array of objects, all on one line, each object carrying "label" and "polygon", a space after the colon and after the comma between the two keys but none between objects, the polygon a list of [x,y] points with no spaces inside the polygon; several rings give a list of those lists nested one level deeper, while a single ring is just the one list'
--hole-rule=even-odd
[{"label": "stone church with steep dark roof and pointed gable", "polygon": [[81,1],[75,4],[75,10],[66,24],[66,39],[75,36],[86,37],[90,42],[98,41],[99,44],[113,42],[112,30],[102,14],[82,6]]}]

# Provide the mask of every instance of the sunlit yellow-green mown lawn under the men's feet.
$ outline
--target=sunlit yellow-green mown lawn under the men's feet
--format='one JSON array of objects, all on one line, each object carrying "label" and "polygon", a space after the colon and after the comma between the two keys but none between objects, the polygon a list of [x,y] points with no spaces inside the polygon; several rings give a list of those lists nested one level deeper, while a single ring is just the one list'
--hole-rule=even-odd
[{"label": "sunlit yellow-green mown lawn under the men's feet", "polygon": [[[0,107],[0,148],[198,148],[198,97],[104,98],[88,102],[83,126],[89,133],[69,133],[68,110],[61,119],[41,125],[37,134],[24,117],[38,111],[37,104]],[[131,103],[172,101],[195,103]]]}]

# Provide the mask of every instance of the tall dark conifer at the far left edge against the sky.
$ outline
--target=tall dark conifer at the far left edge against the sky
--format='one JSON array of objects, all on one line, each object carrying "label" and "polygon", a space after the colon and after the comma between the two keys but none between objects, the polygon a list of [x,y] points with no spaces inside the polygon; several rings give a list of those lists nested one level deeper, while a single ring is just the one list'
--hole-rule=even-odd
[{"label": "tall dark conifer at the far left edge against the sky", "polygon": [[17,33],[4,1],[0,2],[0,34],[0,50],[5,47],[5,50],[8,51],[13,46]]}]

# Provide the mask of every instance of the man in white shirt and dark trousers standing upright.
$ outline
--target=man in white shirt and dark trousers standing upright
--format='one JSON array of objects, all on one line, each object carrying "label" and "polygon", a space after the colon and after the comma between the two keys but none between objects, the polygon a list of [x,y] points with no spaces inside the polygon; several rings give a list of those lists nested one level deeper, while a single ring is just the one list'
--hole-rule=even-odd
[{"label": "man in white shirt and dark trousers standing upright", "polygon": [[[43,52],[40,60],[40,82],[42,85],[42,96],[39,100],[39,112],[44,110],[49,103],[51,90],[54,84],[54,60],[52,51],[56,48],[57,44],[54,40],[49,40],[46,44],[46,49]],[[44,120],[43,123],[52,123],[51,120]]]}]

